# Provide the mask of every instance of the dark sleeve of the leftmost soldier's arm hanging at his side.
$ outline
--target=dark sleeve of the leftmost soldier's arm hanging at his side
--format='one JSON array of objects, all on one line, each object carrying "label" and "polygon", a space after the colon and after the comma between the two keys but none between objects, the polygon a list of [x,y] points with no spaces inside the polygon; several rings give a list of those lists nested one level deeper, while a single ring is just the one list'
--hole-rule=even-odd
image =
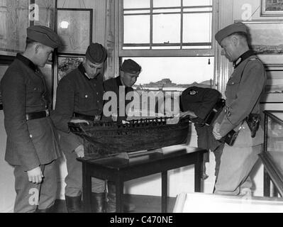
[{"label": "dark sleeve of the leftmost soldier's arm hanging at his side", "polygon": [[1,81],[4,107],[4,126],[10,140],[16,145],[21,165],[26,171],[40,165],[26,122],[26,84],[19,72],[6,74]]}]

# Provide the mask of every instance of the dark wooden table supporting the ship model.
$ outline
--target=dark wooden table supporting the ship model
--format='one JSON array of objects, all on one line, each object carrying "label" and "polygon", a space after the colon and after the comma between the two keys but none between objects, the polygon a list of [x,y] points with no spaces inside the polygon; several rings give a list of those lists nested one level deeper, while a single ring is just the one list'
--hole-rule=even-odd
[{"label": "dark wooden table supporting the ship model", "polygon": [[[170,148],[170,149],[168,149]],[[167,171],[194,165],[194,191],[201,192],[201,172],[206,150],[177,145],[164,148],[163,152],[136,155],[133,158],[107,157],[91,160],[78,158],[82,162],[82,187],[84,212],[91,211],[91,177],[108,179],[116,184],[116,211],[123,212],[123,182],[156,173],[162,176],[162,213],[167,212]],[[167,150],[166,150],[167,149]],[[168,151],[169,150],[169,151]]]}]

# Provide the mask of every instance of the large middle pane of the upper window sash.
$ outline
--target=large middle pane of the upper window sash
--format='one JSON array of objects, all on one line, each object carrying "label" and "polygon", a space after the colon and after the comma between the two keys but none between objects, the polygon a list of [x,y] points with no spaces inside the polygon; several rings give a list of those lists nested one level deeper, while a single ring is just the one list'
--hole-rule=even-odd
[{"label": "large middle pane of the upper window sash", "polygon": [[181,16],[160,14],[153,16],[153,43],[180,43]]}]

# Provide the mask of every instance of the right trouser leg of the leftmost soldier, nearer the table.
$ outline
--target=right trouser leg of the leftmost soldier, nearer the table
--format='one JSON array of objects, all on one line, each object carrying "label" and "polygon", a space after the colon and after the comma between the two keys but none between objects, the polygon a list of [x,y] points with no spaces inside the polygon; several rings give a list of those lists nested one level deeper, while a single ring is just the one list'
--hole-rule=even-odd
[{"label": "right trouser leg of the leftmost soldier, nearer the table", "polygon": [[54,205],[56,199],[58,177],[56,161],[43,165],[41,170],[43,171],[44,178],[40,188],[38,209],[46,210]]}]

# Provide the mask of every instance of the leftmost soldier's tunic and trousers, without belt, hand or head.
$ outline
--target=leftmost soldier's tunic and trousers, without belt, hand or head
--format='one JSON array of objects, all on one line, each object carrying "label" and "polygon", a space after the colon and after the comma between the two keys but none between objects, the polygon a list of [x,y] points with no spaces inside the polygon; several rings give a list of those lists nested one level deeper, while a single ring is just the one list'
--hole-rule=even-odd
[{"label": "leftmost soldier's tunic and trousers, without belt, hand or head", "polygon": [[[60,157],[57,132],[50,117],[26,121],[26,113],[49,109],[47,91],[43,74],[23,55],[16,56],[1,79],[7,133],[5,160],[15,166],[15,212],[33,212],[37,205],[38,209],[48,209],[56,199],[57,172],[53,161]],[[43,182],[28,182],[26,171],[39,166]],[[30,203],[30,192],[35,191],[39,192],[39,204]]]}]

